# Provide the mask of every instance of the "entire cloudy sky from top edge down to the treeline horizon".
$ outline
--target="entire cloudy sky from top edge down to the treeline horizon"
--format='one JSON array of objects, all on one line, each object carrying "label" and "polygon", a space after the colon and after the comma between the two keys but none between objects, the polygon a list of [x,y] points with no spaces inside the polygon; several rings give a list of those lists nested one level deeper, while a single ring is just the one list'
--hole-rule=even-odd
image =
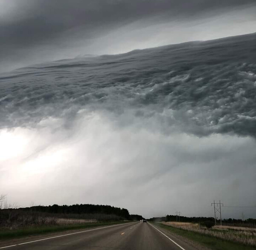
[{"label": "entire cloudy sky from top edge down to the treeline horizon", "polygon": [[255,13],[254,0],[0,0],[0,72],[44,63],[0,74],[0,195],[146,218],[212,216],[215,199],[224,218],[255,218],[253,37],[209,51],[221,67],[200,66],[212,43],[89,57],[253,33]]}]

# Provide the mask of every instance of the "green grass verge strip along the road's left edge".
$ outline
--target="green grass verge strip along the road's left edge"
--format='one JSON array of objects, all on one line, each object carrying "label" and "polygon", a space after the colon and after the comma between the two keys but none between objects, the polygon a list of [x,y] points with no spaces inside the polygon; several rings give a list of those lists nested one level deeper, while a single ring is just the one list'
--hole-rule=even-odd
[{"label": "green grass verge strip along the road's left edge", "polygon": [[108,226],[114,224],[121,224],[127,222],[102,222],[102,223],[87,223],[87,224],[73,224],[73,225],[55,225],[55,226],[40,226],[28,227],[18,230],[0,230],[0,241],[6,239],[15,239],[23,236],[41,235],[44,233],[63,232],[67,230],[86,229],[98,226]]}]

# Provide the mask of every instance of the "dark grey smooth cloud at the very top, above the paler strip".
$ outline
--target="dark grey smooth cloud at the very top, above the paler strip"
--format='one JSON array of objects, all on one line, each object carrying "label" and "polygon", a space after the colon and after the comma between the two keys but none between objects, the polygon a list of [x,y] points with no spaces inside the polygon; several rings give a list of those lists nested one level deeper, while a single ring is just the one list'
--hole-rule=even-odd
[{"label": "dark grey smooth cloud at the very top, above the paler strip", "polygon": [[56,0],[6,1],[2,4],[6,13],[0,21],[1,64],[15,61],[31,64],[29,60],[35,57],[74,48],[78,40],[86,47],[93,43],[92,39],[136,21],[145,20],[152,25],[196,20],[201,15],[214,16],[250,3],[254,1],[62,0],[61,4]]}]

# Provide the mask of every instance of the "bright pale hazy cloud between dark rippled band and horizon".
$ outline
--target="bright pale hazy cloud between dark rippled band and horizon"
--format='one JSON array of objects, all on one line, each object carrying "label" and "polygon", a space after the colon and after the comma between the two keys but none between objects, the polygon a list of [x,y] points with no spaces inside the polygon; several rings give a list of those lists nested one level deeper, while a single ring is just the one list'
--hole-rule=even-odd
[{"label": "bright pale hazy cloud between dark rippled band and horizon", "polygon": [[[110,204],[147,217],[177,209],[188,216],[209,216],[212,199],[253,205],[247,196],[253,196],[256,181],[254,139],[165,135],[149,124],[135,118],[133,125],[120,127],[108,113],[82,110],[68,129],[49,117],[36,128],[2,131],[2,150],[14,155],[1,159],[6,166],[1,190],[21,206]],[[6,148],[4,136],[12,149]],[[22,136],[26,141],[18,144],[19,153],[12,139],[17,143]],[[233,183],[238,183],[236,193]],[[230,216],[230,210],[223,213]],[[252,209],[244,214],[254,216]]]}]

